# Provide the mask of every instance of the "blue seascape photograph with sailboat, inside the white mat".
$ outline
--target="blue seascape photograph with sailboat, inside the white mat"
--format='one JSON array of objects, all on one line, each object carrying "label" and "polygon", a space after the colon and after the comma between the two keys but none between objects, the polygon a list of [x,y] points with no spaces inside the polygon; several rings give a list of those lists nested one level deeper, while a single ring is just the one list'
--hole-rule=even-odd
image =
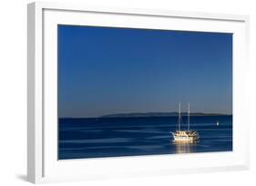
[{"label": "blue seascape photograph with sailboat, inside the white mat", "polygon": [[58,160],[232,152],[232,48],[232,33],[57,24]]}]

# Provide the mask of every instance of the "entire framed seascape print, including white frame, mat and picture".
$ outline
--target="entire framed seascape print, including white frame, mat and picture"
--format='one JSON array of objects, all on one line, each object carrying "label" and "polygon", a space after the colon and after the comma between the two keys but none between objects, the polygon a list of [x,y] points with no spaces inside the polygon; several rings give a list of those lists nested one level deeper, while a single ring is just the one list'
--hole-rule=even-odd
[{"label": "entire framed seascape print, including white frame, mat and picture", "polygon": [[248,20],[28,5],[28,181],[247,169]]}]

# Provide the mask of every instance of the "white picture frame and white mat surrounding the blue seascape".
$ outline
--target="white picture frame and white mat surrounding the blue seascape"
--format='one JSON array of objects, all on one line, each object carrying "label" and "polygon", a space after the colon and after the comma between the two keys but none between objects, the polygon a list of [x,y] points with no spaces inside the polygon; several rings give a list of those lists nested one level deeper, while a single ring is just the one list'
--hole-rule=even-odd
[{"label": "white picture frame and white mat surrounding the blue seascape", "polygon": [[[169,154],[58,161],[56,128],[56,25],[161,28],[232,33],[233,152]],[[27,9],[27,180],[74,181],[249,168],[246,15],[32,3]],[[241,124],[242,123],[242,124]]]}]

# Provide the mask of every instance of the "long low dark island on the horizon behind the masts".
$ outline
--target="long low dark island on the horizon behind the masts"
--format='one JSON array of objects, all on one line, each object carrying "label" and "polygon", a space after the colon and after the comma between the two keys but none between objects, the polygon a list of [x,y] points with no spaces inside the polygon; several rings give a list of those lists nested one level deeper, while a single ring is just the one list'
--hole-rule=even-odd
[{"label": "long low dark island on the horizon behind the masts", "polygon": [[[128,117],[164,117],[164,116],[178,116],[178,112],[172,113],[113,113],[102,115],[99,118],[128,118]],[[188,113],[181,113],[181,116],[187,116]],[[231,115],[225,113],[190,113],[190,116],[218,116]]]}]

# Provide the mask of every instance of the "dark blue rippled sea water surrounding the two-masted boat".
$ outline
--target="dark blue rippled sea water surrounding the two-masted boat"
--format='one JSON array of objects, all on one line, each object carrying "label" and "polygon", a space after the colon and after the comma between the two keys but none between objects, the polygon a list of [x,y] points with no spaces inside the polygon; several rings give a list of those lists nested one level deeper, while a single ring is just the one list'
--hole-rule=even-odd
[{"label": "dark blue rippled sea water surrounding the two-masted boat", "polygon": [[232,116],[193,116],[190,129],[200,141],[175,144],[177,117],[59,119],[58,159],[232,151]]}]

